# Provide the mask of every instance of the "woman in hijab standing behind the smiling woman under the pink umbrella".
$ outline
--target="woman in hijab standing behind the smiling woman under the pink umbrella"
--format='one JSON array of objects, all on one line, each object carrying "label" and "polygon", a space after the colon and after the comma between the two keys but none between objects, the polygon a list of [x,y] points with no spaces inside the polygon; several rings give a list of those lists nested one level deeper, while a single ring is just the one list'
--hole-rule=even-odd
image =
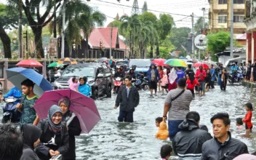
[{"label": "woman in hijab standing behind the smiling woman under the pink umbrella", "polygon": [[58,105],[63,111],[63,121],[68,126],[68,135],[69,135],[69,149],[65,153],[65,160],[76,160],[76,139],[75,135],[80,135],[81,127],[79,119],[76,114],[69,111],[71,101],[68,97],[61,97]]}]

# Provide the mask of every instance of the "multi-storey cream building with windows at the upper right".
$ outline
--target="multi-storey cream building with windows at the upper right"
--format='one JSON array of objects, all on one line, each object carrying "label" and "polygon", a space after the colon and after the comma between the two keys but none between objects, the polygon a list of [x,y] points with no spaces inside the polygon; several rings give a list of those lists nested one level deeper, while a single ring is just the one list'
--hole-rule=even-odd
[{"label": "multi-storey cream building with windows at the upper right", "polygon": [[[244,1],[233,0],[233,33],[245,33]],[[231,0],[209,0],[209,29],[210,31],[230,31]]]}]

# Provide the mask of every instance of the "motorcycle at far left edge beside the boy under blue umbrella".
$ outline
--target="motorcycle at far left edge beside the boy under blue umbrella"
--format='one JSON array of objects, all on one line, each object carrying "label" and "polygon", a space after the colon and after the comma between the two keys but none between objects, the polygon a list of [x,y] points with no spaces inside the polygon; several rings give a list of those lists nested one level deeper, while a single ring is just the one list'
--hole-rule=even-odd
[{"label": "motorcycle at far left edge beside the boy under blue umbrella", "polygon": [[3,106],[3,118],[1,119],[2,124],[6,124],[9,122],[17,123],[20,121],[21,113],[18,111],[15,111],[16,104],[20,103],[20,98],[15,97],[7,97],[4,99],[4,102],[6,103]]}]

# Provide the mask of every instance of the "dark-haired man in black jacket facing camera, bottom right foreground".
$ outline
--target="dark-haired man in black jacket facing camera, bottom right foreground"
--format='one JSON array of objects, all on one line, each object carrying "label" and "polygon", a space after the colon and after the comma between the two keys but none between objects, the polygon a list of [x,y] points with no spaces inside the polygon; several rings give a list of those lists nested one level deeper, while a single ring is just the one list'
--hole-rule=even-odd
[{"label": "dark-haired man in black jacket facing camera, bottom right foreground", "polygon": [[231,137],[231,120],[228,113],[217,113],[211,119],[214,138],[207,140],[202,147],[202,160],[231,160],[240,154],[248,153],[247,145]]}]

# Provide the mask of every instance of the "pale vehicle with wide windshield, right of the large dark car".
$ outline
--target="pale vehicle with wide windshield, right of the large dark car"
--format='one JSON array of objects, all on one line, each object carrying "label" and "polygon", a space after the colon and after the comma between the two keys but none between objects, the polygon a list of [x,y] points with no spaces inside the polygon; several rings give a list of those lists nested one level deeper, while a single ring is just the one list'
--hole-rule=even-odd
[{"label": "pale vehicle with wide windshield, right of the large dark car", "polygon": [[129,67],[136,65],[135,73],[142,73],[144,76],[147,76],[149,67],[151,66],[150,59],[131,59],[129,61]]}]

